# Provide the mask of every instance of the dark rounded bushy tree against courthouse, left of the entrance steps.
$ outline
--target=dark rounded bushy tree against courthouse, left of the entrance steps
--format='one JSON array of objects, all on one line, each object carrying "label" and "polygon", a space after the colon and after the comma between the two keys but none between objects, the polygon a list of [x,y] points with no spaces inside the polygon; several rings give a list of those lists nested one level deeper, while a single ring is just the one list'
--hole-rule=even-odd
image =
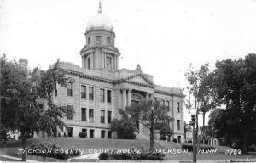
[{"label": "dark rounded bushy tree against courthouse, left of the entrance steps", "polygon": [[121,115],[120,119],[113,119],[110,124],[110,129],[112,132],[117,133],[117,138],[120,139],[135,139],[136,124],[135,121],[129,117],[125,111],[119,110]]}]

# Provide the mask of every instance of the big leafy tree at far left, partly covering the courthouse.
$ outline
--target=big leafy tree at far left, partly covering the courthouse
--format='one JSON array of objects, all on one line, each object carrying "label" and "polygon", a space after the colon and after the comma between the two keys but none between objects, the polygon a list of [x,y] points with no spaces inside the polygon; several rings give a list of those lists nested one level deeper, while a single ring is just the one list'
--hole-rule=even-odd
[{"label": "big leafy tree at far left, partly covering the courthouse", "polygon": [[56,84],[66,86],[67,80],[59,61],[46,71],[38,67],[26,70],[5,55],[1,57],[1,125],[2,129],[21,132],[23,149],[28,133],[56,136],[57,128],[63,130],[66,126],[61,118],[67,116],[67,106],[55,105],[53,93]]}]

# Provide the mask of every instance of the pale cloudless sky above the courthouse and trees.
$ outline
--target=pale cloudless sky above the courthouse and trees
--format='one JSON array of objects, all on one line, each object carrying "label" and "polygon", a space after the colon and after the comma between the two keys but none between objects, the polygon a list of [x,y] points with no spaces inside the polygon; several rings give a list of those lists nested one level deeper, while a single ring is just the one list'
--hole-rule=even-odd
[{"label": "pale cloudless sky above the courthouse and trees", "polygon": [[[0,54],[43,70],[56,59],[81,66],[97,10],[97,0],[0,0]],[[102,0],[102,11],[113,23],[120,68],[135,70],[138,48],[138,63],[158,85],[186,88],[190,63],[213,69],[217,59],[256,53],[256,0]]]}]

